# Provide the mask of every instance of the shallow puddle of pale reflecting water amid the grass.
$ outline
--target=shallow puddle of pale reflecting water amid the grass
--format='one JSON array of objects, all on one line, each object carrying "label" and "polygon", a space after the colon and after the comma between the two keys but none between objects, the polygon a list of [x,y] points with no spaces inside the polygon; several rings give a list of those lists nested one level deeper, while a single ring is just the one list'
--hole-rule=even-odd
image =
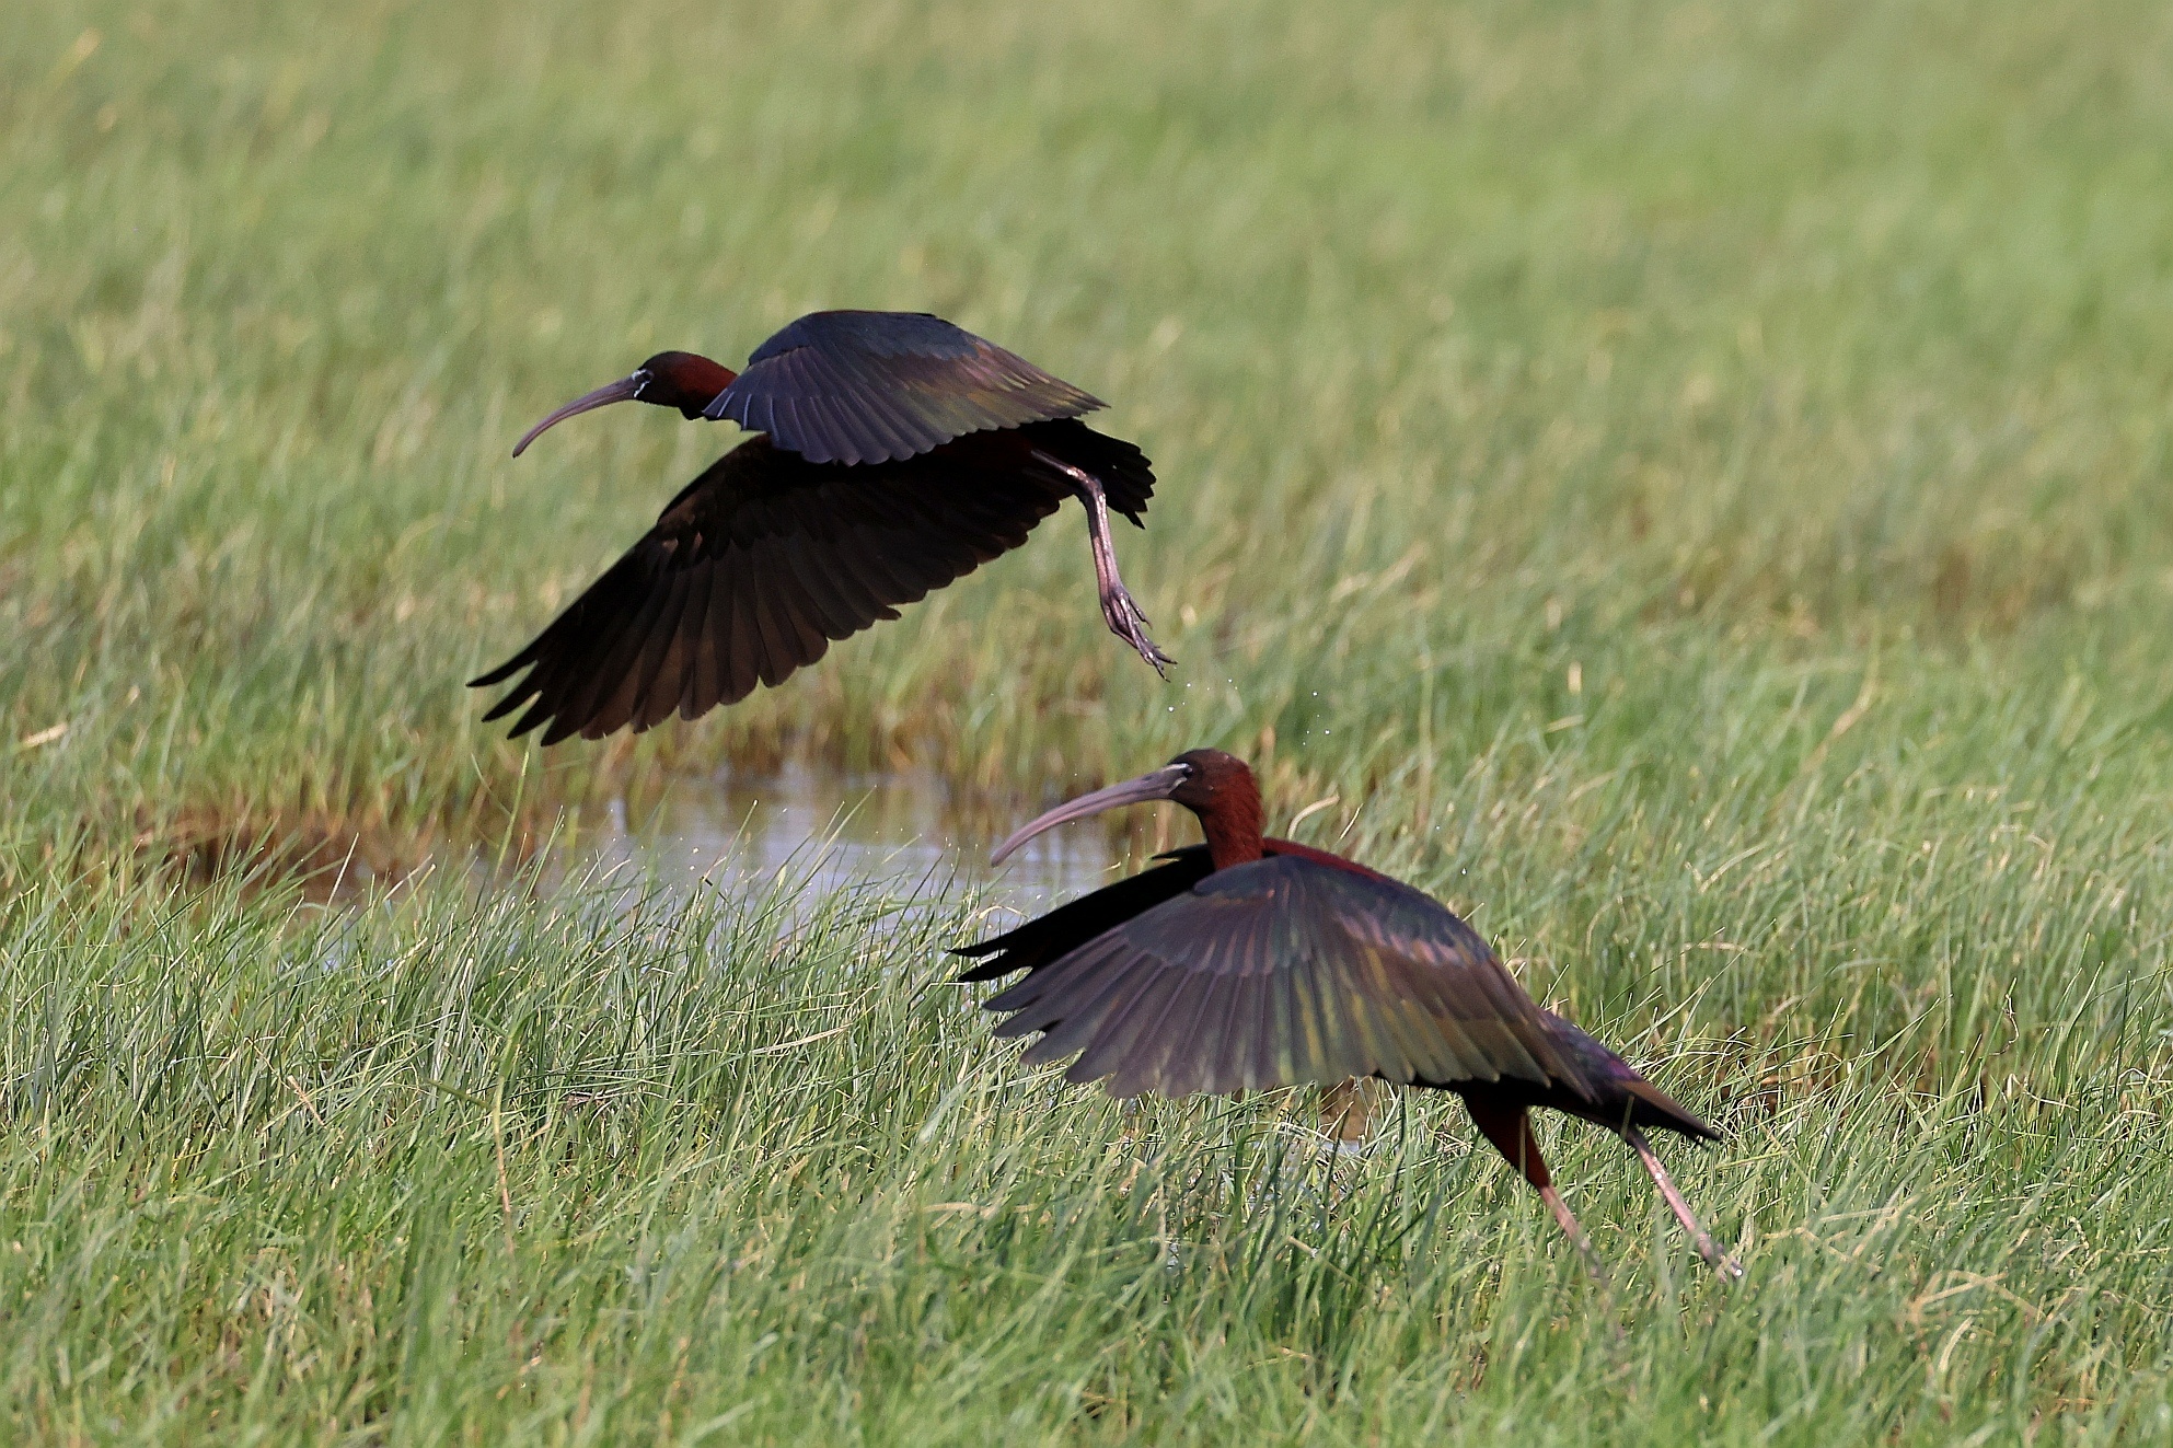
[{"label": "shallow puddle of pale reflecting water amid the grass", "polygon": [[[993,904],[1041,913],[1108,883],[1106,837],[1050,831],[989,870],[989,850],[1034,813],[954,800],[932,774],[841,774],[787,765],[776,774],[676,778],[645,813],[611,802],[602,833],[578,841],[574,874],[624,874],[724,889],[776,878],[811,891],[882,883],[900,891],[987,883]],[[569,861],[574,863],[574,861]]]}]

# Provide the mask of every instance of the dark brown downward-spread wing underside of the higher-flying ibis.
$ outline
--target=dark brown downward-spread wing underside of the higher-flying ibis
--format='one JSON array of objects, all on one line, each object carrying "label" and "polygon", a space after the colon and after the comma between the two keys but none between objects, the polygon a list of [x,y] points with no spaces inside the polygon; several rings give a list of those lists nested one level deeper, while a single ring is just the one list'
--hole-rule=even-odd
[{"label": "dark brown downward-spread wing underside of the higher-flying ibis", "polygon": [[767,437],[732,448],[528,648],[474,681],[528,670],[485,717],[528,704],[515,737],[548,722],[543,744],[602,739],[782,683],[832,639],[1023,544],[1065,491],[1013,452],[960,444],[845,467]]}]

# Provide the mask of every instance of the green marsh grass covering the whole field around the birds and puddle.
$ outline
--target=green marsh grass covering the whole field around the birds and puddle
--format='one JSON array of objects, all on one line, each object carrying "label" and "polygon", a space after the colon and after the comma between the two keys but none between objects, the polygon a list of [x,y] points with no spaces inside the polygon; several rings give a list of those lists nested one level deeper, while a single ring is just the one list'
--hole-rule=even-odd
[{"label": "green marsh grass covering the whole field around the birds and puddle", "polygon": [[[17,11],[0,1437],[2173,1435],[2162,7]],[[1113,400],[1178,681],[1067,513],[726,715],[480,726],[730,441],[519,430],[837,304]],[[1749,1278],[1599,1133],[1612,1298],[1454,1102],[1330,1178],[1019,1072],[960,891],[302,878],[1197,744],[1723,1122]]]}]

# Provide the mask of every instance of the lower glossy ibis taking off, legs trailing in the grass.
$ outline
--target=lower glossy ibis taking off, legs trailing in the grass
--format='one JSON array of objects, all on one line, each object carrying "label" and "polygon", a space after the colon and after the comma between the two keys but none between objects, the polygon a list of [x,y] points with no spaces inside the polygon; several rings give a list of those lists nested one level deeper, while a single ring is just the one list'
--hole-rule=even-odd
[{"label": "lower glossy ibis taking off, legs trailing in the grass", "polygon": [[1636,1150],[1697,1252],[1741,1276],[1697,1224],[1645,1139],[1719,1133],[1612,1050],[1523,994],[1478,933],[1410,885],[1260,833],[1260,789],[1241,759],[1191,750],[1169,765],[1058,804],[995,848],[1119,804],[1176,800],[1206,844],[954,954],[960,981],[1028,976],[984,1007],[997,1035],[1041,1033],[1026,1061],[1078,1054],[1065,1076],[1113,1096],[1186,1096],[1378,1076],[1456,1091],[1471,1122],[1538,1187],[1597,1272],[1554,1189],[1532,1107],[1606,1126]]}]

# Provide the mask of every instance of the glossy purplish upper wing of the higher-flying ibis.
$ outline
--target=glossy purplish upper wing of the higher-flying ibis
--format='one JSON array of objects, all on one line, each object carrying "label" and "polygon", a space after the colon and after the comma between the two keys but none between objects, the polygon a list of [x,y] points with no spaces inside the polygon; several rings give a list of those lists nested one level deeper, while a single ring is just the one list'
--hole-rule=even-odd
[{"label": "glossy purplish upper wing of the higher-flying ibis", "polygon": [[811,463],[882,463],[1102,402],[1023,357],[915,311],[815,311],[754,348],[706,409]]}]

